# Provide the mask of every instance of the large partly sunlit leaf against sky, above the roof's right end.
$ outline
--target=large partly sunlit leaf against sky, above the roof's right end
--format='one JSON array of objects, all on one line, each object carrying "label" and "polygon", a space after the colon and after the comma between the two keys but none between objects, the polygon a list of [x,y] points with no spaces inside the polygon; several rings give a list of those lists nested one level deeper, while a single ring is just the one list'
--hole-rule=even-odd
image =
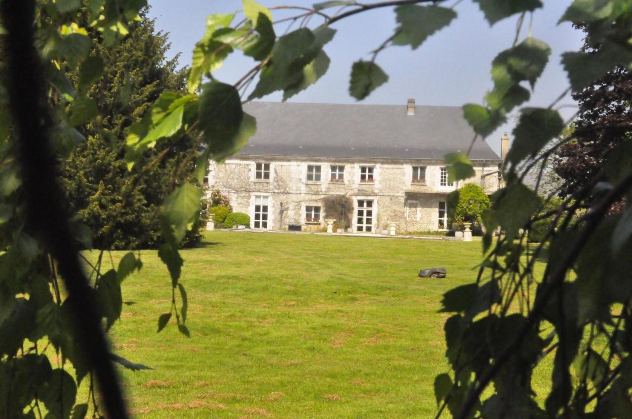
[{"label": "large partly sunlit leaf against sky, above the roof's right end", "polygon": [[541,40],[528,37],[513,48],[502,51],[492,61],[492,68],[502,66],[514,83],[526,80],[531,88],[542,75],[551,49]]}]

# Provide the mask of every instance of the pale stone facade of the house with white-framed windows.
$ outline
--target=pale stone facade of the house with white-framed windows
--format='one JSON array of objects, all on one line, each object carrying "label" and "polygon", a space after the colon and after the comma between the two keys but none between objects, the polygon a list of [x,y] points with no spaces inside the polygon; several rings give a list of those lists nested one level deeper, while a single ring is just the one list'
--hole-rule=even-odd
[{"label": "pale stone facade of the house with white-framed windows", "polygon": [[[477,183],[487,194],[493,193],[499,187],[499,163],[473,161],[476,175],[465,182]],[[332,166],[344,169],[334,169],[336,174],[332,175]],[[320,167],[320,179],[316,167]],[[425,177],[414,167],[424,167]],[[372,177],[368,168],[372,168]],[[234,211],[250,215],[251,228],[288,230],[300,226],[303,231],[320,231],[325,226],[322,199],[346,195],[353,201],[353,232],[380,233],[395,223],[396,231],[405,233],[447,227],[446,197],[457,186],[446,184],[442,168],[442,160],[430,159],[237,156],[222,164],[211,163],[208,184],[210,190],[228,194]],[[413,181],[415,175],[418,179]],[[329,216],[341,219],[339,215]]]}]

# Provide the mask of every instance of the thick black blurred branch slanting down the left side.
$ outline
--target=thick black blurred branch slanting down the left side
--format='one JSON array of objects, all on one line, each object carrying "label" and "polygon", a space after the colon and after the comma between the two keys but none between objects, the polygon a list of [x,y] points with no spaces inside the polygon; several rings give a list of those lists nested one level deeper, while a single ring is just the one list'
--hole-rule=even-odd
[{"label": "thick black blurred branch slanting down the left side", "polygon": [[109,345],[95,307],[94,290],[82,270],[78,244],[70,233],[56,160],[50,146],[51,117],[47,109],[42,62],[35,49],[34,0],[4,0],[8,93],[15,123],[27,224],[58,263],[68,291],[75,339],[94,369],[104,405],[111,418],[128,417],[118,374],[109,360]]}]

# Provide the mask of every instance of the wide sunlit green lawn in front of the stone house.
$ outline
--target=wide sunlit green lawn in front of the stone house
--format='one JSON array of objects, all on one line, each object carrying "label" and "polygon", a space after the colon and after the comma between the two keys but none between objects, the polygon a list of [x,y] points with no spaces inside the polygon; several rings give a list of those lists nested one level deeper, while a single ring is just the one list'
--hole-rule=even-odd
[{"label": "wide sunlit green lawn in front of the stone house", "polygon": [[[114,252],[114,259],[124,252]],[[156,333],[170,280],[155,252],[123,283],[112,328],[139,418],[428,418],[446,372],[441,295],[480,243],[209,232],[183,251],[187,326]],[[115,260],[116,262],[116,260]],[[442,266],[447,278],[417,277]]]}]

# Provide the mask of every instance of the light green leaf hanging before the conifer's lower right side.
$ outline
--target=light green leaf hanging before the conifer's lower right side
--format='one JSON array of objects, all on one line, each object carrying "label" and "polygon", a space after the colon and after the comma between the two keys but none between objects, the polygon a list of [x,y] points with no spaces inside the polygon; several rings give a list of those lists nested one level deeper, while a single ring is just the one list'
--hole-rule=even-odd
[{"label": "light green leaf hanging before the conifer's lower right side", "polygon": [[190,230],[200,211],[202,191],[190,183],[176,187],[162,204],[162,218],[173,228],[174,245],[178,245]]}]

